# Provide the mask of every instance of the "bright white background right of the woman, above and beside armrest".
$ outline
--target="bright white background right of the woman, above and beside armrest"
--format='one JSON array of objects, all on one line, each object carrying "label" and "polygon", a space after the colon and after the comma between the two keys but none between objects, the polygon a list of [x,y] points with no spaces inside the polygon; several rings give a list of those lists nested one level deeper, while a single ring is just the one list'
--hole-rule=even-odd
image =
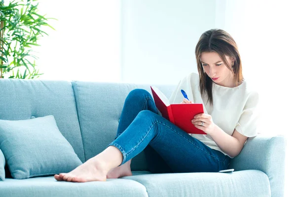
[{"label": "bright white background right of the woman, above and beside armrest", "polygon": [[[259,131],[287,140],[285,196],[294,194],[296,172],[296,2],[292,0],[217,0],[224,21],[216,24],[238,43],[243,73],[259,91]],[[217,13],[218,13],[217,12]]]}]

